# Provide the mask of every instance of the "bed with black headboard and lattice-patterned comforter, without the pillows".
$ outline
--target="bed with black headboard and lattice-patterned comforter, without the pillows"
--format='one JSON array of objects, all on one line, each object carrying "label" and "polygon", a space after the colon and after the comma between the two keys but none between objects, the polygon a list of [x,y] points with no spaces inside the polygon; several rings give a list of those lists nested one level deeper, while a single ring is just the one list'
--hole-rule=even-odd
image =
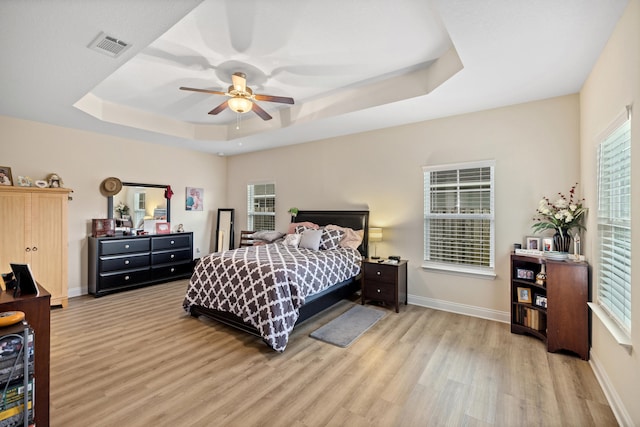
[{"label": "bed with black headboard and lattice-patterned comforter, without the pillows", "polygon": [[292,222],[358,230],[363,239],[357,249],[314,251],[278,241],[207,255],[189,281],[185,311],[258,336],[282,352],[296,324],[360,290],[369,212],[299,211]]}]

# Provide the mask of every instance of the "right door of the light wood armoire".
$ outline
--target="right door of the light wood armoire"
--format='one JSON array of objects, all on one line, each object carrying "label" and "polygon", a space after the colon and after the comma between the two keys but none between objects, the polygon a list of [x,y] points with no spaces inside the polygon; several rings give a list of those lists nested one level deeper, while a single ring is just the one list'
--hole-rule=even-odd
[{"label": "right door of the light wood armoire", "polygon": [[31,269],[51,294],[51,304],[66,305],[67,195],[33,194]]}]

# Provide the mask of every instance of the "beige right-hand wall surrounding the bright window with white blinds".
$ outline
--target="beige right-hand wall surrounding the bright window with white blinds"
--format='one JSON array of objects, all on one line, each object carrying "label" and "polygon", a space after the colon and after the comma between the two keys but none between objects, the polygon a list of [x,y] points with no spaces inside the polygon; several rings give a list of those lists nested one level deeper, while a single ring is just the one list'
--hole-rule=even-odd
[{"label": "beige right-hand wall surrounding the bright window with white blinds", "polygon": [[[581,102],[581,180],[585,183],[590,207],[588,229],[591,238],[586,245],[587,255],[593,259],[596,237],[596,153],[598,136],[622,114],[625,105],[635,104],[631,119],[632,134],[632,324],[631,340],[634,345],[629,354],[613,339],[597,316],[593,316],[592,363],[602,376],[601,383],[609,394],[612,406],[617,409],[622,425],[640,425],[640,1],[632,0],[598,62],[593,68],[582,91]],[[594,264],[592,277],[597,277]],[[594,280],[593,290],[596,292]],[[594,298],[595,299],[595,298]]]}]

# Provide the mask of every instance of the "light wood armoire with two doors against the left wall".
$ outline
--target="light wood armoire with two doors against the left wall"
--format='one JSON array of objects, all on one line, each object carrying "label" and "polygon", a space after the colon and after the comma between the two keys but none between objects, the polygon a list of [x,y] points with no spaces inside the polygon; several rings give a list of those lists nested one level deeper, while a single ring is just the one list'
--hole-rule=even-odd
[{"label": "light wood armoire with two doors against the left wall", "polygon": [[67,305],[68,188],[0,185],[0,272],[29,264],[51,294],[51,305]]}]

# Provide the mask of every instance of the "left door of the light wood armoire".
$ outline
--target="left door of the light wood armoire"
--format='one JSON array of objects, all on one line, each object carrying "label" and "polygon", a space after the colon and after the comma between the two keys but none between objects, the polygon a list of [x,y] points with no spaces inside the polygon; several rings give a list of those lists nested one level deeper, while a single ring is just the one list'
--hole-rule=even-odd
[{"label": "left door of the light wood armoire", "polygon": [[23,193],[0,193],[0,272],[11,271],[10,263],[31,261],[31,236],[28,219],[31,196]]}]

